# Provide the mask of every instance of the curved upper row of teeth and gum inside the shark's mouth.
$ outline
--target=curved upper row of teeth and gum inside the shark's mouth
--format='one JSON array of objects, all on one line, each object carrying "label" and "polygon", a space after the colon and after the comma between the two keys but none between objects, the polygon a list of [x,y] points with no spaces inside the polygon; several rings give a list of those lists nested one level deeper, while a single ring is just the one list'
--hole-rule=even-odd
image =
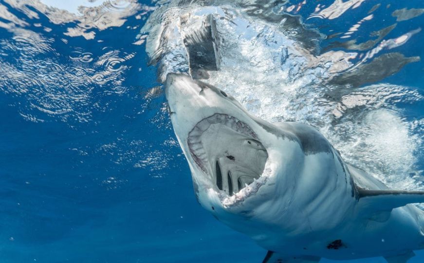
[{"label": "curved upper row of teeth and gum inside the shark's mouth", "polygon": [[229,116],[228,114],[215,113],[212,116],[204,118],[188,133],[187,138],[191,157],[193,157],[194,162],[203,170],[204,173],[208,173],[206,169],[207,156],[203,149],[201,135],[204,131],[209,129],[212,124],[221,124],[234,131],[240,132],[241,134],[258,139],[256,133],[252,131],[247,124],[233,116]]}]

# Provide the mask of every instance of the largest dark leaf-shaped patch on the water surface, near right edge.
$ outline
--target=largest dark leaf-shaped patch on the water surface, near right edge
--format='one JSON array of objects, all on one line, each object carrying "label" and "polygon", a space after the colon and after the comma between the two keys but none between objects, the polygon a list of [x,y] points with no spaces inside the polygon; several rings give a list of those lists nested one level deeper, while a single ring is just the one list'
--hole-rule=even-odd
[{"label": "largest dark leaf-shaped patch on the water surface, near right edge", "polygon": [[401,53],[388,53],[376,57],[367,64],[361,64],[331,80],[333,84],[350,84],[358,87],[365,83],[380,81],[385,77],[398,73],[406,64],[420,61],[419,56],[405,57]]}]

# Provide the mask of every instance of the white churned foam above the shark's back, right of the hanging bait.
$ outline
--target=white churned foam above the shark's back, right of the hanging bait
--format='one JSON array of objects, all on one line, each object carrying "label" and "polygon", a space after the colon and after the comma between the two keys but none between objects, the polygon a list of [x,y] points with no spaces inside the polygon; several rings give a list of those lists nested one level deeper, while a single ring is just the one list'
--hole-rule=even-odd
[{"label": "white churned foam above the shark's back, right of the hanging bait", "polygon": [[[423,188],[416,155],[422,146],[422,131],[418,133],[422,121],[409,122],[395,105],[422,100],[420,94],[389,84],[361,89],[326,84],[337,72],[351,67],[350,59],[357,54],[329,51],[313,56],[279,31],[278,25],[230,7],[225,16],[220,8],[207,12],[201,8],[184,12],[212,10],[221,36],[220,70],[209,72],[207,82],[267,121],[294,120],[315,126],[348,163],[391,188]],[[166,71],[178,70],[171,63],[168,66]]]}]

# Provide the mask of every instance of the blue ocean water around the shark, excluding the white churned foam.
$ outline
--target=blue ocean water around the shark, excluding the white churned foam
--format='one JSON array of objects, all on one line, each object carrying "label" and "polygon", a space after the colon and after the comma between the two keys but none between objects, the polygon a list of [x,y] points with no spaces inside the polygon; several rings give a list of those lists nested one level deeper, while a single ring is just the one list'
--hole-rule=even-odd
[{"label": "blue ocean water around the shark, excluding the white churned foam", "polygon": [[[327,36],[347,31],[379,5],[372,22],[361,24],[357,43],[389,25],[396,24],[383,39],[424,26],[421,11],[400,21],[392,15],[424,8],[421,0],[350,0],[339,19],[307,20],[317,4],[337,0],[292,2],[301,6],[296,15]],[[162,4],[0,1],[0,262],[255,263],[265,256],[195,199],[141,32]],[[321,49],[345,48],[333,40],[323,40]],[[423,57],[423,42],[417,32],[391,51]],[[360,86],[390,83],[424,94],[424,62],[416,60]],[[386,106],[401,109],[414,124],[407,135],[422,139],[418,97],[398,96]],[[424,182],[422,149],[417,142],[412,150],[417,188]],[[416,253],[410,262],[424,262],[424,253]]]}]

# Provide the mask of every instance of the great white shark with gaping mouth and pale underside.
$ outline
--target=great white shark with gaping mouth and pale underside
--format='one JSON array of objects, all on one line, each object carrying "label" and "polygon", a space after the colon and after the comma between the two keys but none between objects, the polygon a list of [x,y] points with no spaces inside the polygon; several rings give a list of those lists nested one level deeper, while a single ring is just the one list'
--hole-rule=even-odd
[{"label": "great white shark with gaping mouth and pale underside", "polygon": [[230,94],[168,74],[171,122],[199,203],[268,250],[263,263],[383,256],[424,248],[424,192],[388,189],[345,163],[316,129],[269,123]]}]

